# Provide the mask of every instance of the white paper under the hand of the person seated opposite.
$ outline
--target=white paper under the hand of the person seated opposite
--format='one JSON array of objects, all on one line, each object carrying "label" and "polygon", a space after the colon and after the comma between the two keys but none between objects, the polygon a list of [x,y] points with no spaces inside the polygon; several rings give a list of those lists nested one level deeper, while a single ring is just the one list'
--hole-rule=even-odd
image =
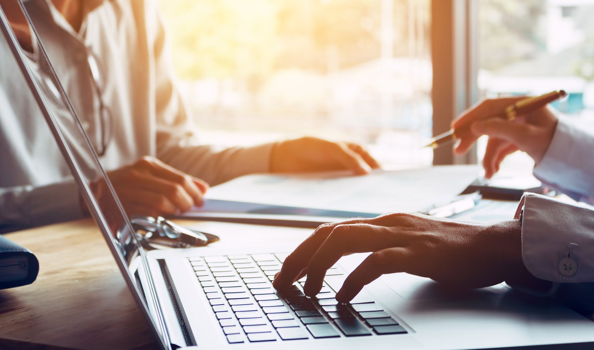
[{"label": "white paper under the hand of the person seated opposite", "polygon": [[252,174],[212,187],[206,198],[367,213],[424,212],[451,201],[478,174],[477,166],[377,170],[365,176]]}]

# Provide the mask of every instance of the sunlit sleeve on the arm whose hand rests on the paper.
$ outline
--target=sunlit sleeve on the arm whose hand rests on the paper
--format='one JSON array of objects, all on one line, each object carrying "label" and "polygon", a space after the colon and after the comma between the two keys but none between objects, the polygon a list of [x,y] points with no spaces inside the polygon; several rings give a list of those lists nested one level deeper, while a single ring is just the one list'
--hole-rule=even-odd
[{"label": "sunlit sleeve on the arm whose hand rests on the paper", "polygon": [[157,158],[211,185],[244,174],[268,172],[274,144],[224,149],[197,143],[194,124],[176,86],[162,19],[156,7],[149,12],[149,23],[156,26],[152,31],[152,53],[156,77]]}]

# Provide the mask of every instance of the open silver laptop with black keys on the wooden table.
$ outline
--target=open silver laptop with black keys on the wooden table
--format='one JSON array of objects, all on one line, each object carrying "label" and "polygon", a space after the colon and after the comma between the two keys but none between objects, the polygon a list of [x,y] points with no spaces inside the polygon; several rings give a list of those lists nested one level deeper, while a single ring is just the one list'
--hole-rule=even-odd
[{"label": "open silver laptop with black keys on the wooden table", "polygon": [[[19,7],[10,10],[22,11]],[[16,15],[31,26],[26,13]],[[15,18],[14,13],[10,16]],[[350,304],[338,304],[336,291],[364,255],[340,259],[328,270],[321,293],[308,298],[302,280],[282,293],[271,285],[287,252],[294,248],[280,240],[264,248],[260,244],[146,251],[32,26],[31,50],[20,46],[2,11],[0,25],[0,55],[3,60],[14,56],[30,90],[25,92],[39,105],[160,348],[594,346],[593,322],[551,300],[528,298],[504,284],[448,291],[429,279],[396,273],[367,285]]]}]

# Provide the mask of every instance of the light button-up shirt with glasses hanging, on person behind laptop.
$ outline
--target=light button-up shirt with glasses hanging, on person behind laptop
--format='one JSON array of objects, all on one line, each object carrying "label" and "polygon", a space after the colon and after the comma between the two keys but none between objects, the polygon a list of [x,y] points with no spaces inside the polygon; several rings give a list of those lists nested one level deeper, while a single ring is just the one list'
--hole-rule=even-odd
[{"label": "light button-up shirt with glasses hanging, on person behind laptop", "polygon": [[[75,32],[49,0],[26,2],[50,61],[89,135],[99,132],[99,101],[87,56],[102,71],[113,138],[106,170],[152,155],[217,184],[265,172],[272,145],[200,145],[173,77],[168,40],[154,1],[85,1]],[[89,8],[90,7],[90,8]],[[78,189],[10,51],[0,55],[0,232],[82,216]],[[26,93],[27,92],[27,93]]]}]

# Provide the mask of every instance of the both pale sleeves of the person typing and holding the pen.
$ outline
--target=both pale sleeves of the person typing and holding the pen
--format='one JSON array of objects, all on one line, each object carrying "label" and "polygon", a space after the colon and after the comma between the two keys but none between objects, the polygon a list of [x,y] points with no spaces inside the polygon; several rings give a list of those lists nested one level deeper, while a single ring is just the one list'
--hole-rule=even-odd
[{"label": "both pale sleeves of the person typing and holding the pen", "polygon": [[[568,196],[591,203],[593,154],[594,135],[560,120],[534,174]],[[528,193],[516,217],[522,210],[522,259],[528,271],[557,283],[594,282],[594,209]]]}]

